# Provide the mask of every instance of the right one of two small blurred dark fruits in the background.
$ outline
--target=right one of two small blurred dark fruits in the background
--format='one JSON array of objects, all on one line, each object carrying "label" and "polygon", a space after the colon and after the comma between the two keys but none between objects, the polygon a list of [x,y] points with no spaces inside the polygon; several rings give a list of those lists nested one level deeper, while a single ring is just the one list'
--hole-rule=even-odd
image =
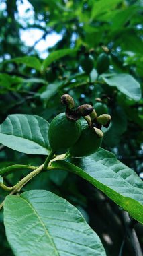
[{"label": "right one of two small blurred dark fruits in the background", "polygon": [[101,53],[97,57],[97,66],[96,66],[97,73],[101,75],[102,73],[104,73],[109,69],[109,65],[110,65],[110,56],[107,55],[107,53]]}]

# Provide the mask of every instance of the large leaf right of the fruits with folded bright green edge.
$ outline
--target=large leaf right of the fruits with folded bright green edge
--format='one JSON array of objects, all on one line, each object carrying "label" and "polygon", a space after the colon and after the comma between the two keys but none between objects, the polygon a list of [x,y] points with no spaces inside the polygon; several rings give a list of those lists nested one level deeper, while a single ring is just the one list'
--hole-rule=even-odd
[{"label": "large leaf right of the fruits with folded bright green edge", "polygon": [[68,170],[100,189],[130,216],[143,223],[143,183],[138,175],[107,150],[86,158],[52,162],[54,168]]}]

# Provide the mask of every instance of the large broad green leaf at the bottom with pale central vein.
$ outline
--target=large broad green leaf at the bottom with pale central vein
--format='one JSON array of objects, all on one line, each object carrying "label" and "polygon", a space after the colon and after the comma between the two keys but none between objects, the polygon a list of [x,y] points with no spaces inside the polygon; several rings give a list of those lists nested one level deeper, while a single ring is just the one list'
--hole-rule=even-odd
[{"label": "large broad green leaf at the bottom with pale central vein", "polygon": [[99,237],[79,210],[49,191],[7,196],[4,223],[16,256],[105,256]]}]

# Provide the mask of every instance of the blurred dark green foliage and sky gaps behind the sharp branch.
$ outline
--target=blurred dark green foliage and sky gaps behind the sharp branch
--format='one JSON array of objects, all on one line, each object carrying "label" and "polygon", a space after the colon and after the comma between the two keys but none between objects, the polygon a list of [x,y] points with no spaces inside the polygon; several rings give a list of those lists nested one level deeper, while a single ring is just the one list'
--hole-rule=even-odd
[{"label": "blurred dark green foliage and sky gaps behind the sharp branch", "polygon": [[[11,113],[52,118],[64,110],[60,96],[109,113],[103,148],[143,178],[142,0],[0,0],[0,121]],[[104,57],[101,57],[101,56]],[[90,61],[93,60],[91,72]],[[107,59],[106,59],[107,58]],[[109,63],[108,63],[109,62]],[[0,146],[0,167],[44,162]],[[26,171],[9,174],[13,185]],[[73,203],[117,256],[125,234],[122,210],[74,174],[40,174],[23,190],[48,189]],[[0,193],[2,201],[7,193]],[[13,255],[0,214],[1,256]],[[140,243],[142,226],[136,225]],[[123,255],[132,255],[126,241]]]}]

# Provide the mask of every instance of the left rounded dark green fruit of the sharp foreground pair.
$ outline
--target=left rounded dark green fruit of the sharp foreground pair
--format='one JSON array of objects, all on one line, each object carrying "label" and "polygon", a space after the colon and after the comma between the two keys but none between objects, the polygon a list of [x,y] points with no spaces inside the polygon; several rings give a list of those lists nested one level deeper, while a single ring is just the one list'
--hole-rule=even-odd
[{"label": "left rounded dark green fruit of the sharp foreground pair", "polygon": [[64,154],[73,146],[81,135],[81,122],[68,120],[65,113],[60,113],[49,126],[48,139],[54,154]]}]

